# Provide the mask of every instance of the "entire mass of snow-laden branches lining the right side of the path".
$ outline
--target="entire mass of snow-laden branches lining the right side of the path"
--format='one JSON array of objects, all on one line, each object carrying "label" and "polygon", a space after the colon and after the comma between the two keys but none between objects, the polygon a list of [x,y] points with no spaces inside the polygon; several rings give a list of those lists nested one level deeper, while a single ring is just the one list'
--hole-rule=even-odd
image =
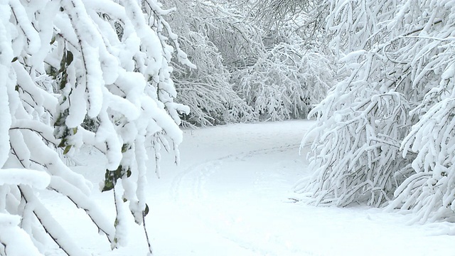
[{"label": "entire mass of snow-laden branches lining the right side of the path", "polygon": [[[311,202],[453,218],[453,1],[325,1],[347,77],[311,114]],[[394,199],[395,196],[395,199]]]}]

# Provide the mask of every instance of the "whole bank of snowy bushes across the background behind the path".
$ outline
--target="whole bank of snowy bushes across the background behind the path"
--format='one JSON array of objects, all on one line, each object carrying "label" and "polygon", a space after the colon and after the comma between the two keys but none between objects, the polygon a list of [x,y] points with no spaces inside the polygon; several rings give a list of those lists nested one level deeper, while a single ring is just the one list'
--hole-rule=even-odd
[{"label": "whole bank of snowy bushes across the background behind the path", "polygon": [[184,125],[306,117],[334,80],[330,54],[295,33],[301,21],[269,30],[252,17],[259,3],[166,4],[177,7],[169,25],[197,66],[173,63],[177,100],[191,108]]}]

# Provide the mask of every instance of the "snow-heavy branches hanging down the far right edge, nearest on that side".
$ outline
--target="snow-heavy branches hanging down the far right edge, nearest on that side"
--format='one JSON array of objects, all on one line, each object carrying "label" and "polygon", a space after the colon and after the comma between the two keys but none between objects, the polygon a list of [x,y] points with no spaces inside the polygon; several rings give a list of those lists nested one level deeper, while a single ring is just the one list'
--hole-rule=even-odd
[{"label": "snow-heavy branches hanging down the far right edge, nearest on that side", "polygon": [[397,37],[402,48],[392,56],[409,63],[412,100],[418,104],[410,112],[418,122],[403,140],[402,154],[417,156],[415,173],[397,189],[390,208],[412,208],[415,220],[455,222],[455,3],[419,1],[401,10],[402,18],[414,23]]}]

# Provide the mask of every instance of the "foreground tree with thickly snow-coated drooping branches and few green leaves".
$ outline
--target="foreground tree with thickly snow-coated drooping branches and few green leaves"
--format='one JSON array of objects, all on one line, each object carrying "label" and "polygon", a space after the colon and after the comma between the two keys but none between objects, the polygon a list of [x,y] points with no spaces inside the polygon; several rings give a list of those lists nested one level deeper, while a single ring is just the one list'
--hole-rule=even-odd
[{"label": "foreground tree with thickly snow-coated drooping branches and few green leaves", "polygon": [[[167,13],[155,0],[0,1],[0,255],[41,255],[47,236],[68,255],[87,255],[40,189],[84,209],[112,248],[124,244],[129,210],[144,225],[148,149],[158,160],[165,146],[178,161],[178,115],[188,112],[173,102]],[[84,145],[106,156],[101,189],[114,191],[115,220],[60,157]]]}]

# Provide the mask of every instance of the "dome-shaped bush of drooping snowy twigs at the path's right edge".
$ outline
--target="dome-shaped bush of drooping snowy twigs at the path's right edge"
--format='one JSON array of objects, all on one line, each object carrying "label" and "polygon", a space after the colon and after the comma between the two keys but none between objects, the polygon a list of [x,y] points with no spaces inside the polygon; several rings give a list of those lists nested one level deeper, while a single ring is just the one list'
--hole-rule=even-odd
[{"label": "dome-shaped bush of drooping snowy twigs at the path's right edge", "polygon": [[[374,58],[368,55],[363,64],[380,68],[383,63]],[[297,190],[309,194],[309,203],[381,206],[393,198],[403,172],[409,173],[400,143],[409,132],[410,106],[404,95],[390,90],[393,81],[378,81],[364,70],[353,72],[311,111],[317,122],[307,136],[314,139],[309,167],[315,174]]]}]

